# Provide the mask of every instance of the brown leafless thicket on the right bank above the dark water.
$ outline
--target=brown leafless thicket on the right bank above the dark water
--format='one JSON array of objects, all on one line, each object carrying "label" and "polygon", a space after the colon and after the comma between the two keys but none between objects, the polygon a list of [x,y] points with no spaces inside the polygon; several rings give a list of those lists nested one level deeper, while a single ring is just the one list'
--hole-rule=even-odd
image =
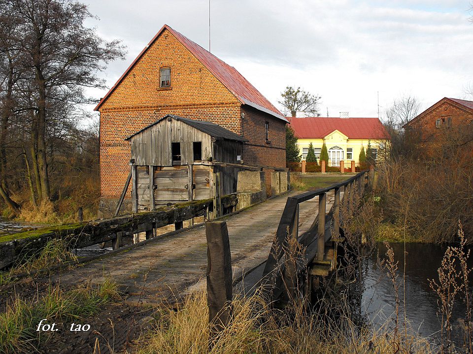
[{"label": "brown leafless thicket on the right bank above the dark water", "polygon": [[393,225],[416,241],[453,242],[461,220],[473,243],[473,157],[378,164],[376,191],[380,207]]}]

